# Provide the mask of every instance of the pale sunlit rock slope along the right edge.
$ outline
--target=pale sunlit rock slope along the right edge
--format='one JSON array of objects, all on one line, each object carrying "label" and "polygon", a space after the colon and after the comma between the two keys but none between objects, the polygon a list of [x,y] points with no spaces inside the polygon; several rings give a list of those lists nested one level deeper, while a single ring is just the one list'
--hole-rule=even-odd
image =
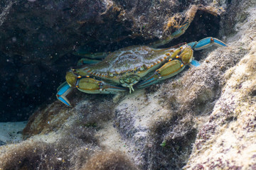
[{"label": "pale sunlit rock slope along the right edge", "polygon": [[[230,46],[247,51],[225,72],[220,98],[201,128],[186,169],[255,169],[256,24],[255,4],[243,11],[247,19]],[[233,52],[233,57],[239,55]]]}]

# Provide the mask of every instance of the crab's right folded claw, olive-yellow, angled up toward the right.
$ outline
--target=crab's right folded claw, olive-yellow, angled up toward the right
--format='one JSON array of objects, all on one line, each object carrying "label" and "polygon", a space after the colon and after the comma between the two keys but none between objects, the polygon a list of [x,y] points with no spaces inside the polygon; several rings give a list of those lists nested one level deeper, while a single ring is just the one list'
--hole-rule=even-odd
[{"label": "crab's right folded claw, olive-yellow, angled up toward the right", "polygon": [[184,64],[181,62],[181,60],[172,60],[170,62],[167,62],[159,69],[156,69],[156,72],[154,72],[151,77],[148,79],[142,81],[137,85],[138,88],[144,88],[146,86],[149,86],[151,84],[155,84],[158,81],[168,79],[170,77],[174,77],[176,74],[181,72],[185,68]]}]

